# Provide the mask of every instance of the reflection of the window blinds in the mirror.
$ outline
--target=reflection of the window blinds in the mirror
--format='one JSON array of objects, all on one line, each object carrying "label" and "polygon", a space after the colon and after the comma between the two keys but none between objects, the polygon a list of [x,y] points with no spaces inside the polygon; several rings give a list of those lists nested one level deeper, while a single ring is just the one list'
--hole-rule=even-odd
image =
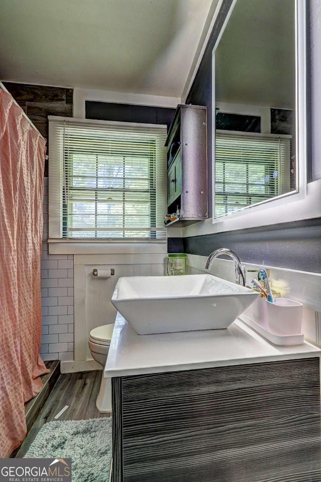
[{"label": "reflection of the window blinds in the mirror", "polygon": [[289,135],[216,131],[215,216],[290,190]]}]

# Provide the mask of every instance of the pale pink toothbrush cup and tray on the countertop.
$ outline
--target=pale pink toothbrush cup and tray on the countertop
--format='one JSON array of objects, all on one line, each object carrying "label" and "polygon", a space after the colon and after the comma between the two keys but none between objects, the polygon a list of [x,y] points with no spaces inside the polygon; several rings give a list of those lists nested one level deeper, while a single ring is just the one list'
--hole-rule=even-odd
[{"label": "pale pink toothbrush cup and tray on the countertop", "polygon": [[[276,304],[271,306],[272,303],[270,304],[264,298],[257,298],[239,318],[245,325],[274,345],[302,345],[304,343],[302,304],[286,298],[278,298],[277,302],[280,303],[279,306]],[[275,333],[270,329],[269,322],[276,330],[279,323],[284,324],[285,333]],[[292,323],[295,325],[291,327]],[[286,333],[286,330],[292,330],[292,333]]]}]

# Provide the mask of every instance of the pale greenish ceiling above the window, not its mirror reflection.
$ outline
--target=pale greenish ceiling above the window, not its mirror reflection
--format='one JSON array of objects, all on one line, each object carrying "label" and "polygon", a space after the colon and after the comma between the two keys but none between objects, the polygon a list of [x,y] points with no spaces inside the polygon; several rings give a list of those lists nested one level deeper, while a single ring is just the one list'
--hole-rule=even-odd
[{"label": "pale greenish ceiling above the window, not its mirror reflection", "polygon": [[0,78],[180,97],[217,3],[1,0]]}]

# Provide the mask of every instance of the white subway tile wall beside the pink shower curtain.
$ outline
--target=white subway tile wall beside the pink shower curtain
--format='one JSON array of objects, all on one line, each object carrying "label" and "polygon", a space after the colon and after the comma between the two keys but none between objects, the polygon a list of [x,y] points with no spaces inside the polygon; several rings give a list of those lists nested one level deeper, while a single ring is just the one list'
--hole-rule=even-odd
[{"label": "white subway tile wall beside the pink shower curtain", "polygon": [[44,186],[44,232],[41,270],[42,345],[44,361],[74,357],[74,257],[48,254],[48,178]]}]

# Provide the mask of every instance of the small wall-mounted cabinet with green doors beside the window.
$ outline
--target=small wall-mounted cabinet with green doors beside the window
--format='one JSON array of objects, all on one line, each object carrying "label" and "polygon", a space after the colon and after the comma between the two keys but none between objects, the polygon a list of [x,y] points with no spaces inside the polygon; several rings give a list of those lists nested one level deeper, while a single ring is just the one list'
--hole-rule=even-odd
[{"label": "small wall-mounted cabinet with green doors beside the window", "polygon": [[206,107],[179,104],[167,139],[168,212],[180,220],[207,219]]}]

